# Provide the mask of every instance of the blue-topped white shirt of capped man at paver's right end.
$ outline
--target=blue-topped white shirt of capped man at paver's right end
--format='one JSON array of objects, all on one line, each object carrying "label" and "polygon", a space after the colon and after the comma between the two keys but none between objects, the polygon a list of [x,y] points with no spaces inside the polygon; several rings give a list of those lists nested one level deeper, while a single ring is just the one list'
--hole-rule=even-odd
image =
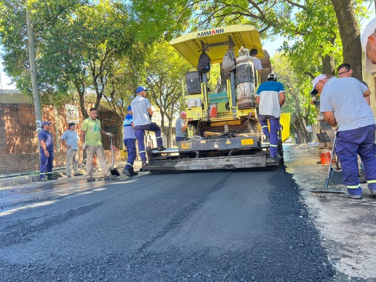
[{"label": "blue-topped white shirt of capped man at paver's right end", "polygon": [[285,92],[283,84],[276,81],[261,83],[257,89],[256,96],[260,97],[259,114],[281,116],[281,106],[279,105],[279,93]]}]

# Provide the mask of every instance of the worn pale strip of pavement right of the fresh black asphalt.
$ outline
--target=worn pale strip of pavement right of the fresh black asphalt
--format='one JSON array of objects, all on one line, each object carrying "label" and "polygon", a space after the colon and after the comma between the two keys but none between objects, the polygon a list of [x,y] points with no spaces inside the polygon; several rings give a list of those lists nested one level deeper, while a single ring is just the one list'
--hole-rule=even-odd
[{"label": "worn pale strip of pavement right of the fresh black asphalt", "polygon": [[285,153],[286,171],[294,174],[302,202],[306,203],[312,221],[320,231],[329,260],[340,272],[337,281],[346,278],[375,282],[376,198],[368,195],[367,184],[361,184],[361,200],[346,199],[339,194],[308,192],[325,179],[328,167],[316,164],[319,157],[314,149],[303,148],[285,146],[285,152],[290,151]]}]

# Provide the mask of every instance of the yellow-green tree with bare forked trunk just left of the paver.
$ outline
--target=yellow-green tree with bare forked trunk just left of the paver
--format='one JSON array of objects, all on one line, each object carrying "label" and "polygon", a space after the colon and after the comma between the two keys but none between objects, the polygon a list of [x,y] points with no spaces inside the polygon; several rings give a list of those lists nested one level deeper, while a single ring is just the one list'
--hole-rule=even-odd
[{"label": "yellow-green tree with bare forked trunk just left of the paver", "polygon": [[[167,147],[171,147],[173,118],[184,105],[182,79],[191,67],[167,41],[157,42],[146,58],[146,84],[150,88],[152,102],[161,113]],[[168,127],[164,126],[166,118]]]}]

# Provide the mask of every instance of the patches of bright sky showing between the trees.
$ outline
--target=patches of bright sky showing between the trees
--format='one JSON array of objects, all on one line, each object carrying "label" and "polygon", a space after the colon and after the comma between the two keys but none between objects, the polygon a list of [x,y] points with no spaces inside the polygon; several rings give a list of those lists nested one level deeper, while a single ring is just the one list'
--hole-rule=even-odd
[{"label": "patches of bright sky showing between the trees", "polygon": [[[368,8],[368,5],[367,4],[367,8]],[[373,19],[374,17],[374,12],[371,12],[371,11],[374,11],[375,7],[374,5],[371,5],[370,7],[370,18],[369,19],[366,19],[366,18],[363,18],[360,22],[361,26],[360,26],[360,31],[363,32],[363,29],[364,27],[367,25],[367,23]],[[264,40],[262,42],[262,46],[264,49],[266,49],[269,53],[270,56],[273,56],[274,53],[276,53],[277,49],[279,49],[279,47],[282,45],[284,41],[284,38],[278,36],[275,40],[271,41],[271,40]],[[2,48],[0,49],[0,52],[2,52]],[[0,80],[1,80],[1,85],[0,85],[0,88],[1,89],[15,89],[15,85],[14,84],[11,84],[11,79],[6,76],[6,74],[4,73],[3,71],[3,64],[2,64],[2,59],[0,58]]]}]

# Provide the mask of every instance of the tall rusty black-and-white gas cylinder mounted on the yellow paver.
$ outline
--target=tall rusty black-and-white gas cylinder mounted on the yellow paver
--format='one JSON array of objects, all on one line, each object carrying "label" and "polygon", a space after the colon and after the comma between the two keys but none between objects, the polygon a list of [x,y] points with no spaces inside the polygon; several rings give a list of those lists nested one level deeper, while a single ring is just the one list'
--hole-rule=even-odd
[{"label": "tall rusty black-and-white gas cylinder mounted on the yellow paver", "polygon": [[236,59],[236,87],[238,109],[256,108],[255,95],[255,68],[253,59],[249,55],[249,49],[239,50],[239,56]]}]

